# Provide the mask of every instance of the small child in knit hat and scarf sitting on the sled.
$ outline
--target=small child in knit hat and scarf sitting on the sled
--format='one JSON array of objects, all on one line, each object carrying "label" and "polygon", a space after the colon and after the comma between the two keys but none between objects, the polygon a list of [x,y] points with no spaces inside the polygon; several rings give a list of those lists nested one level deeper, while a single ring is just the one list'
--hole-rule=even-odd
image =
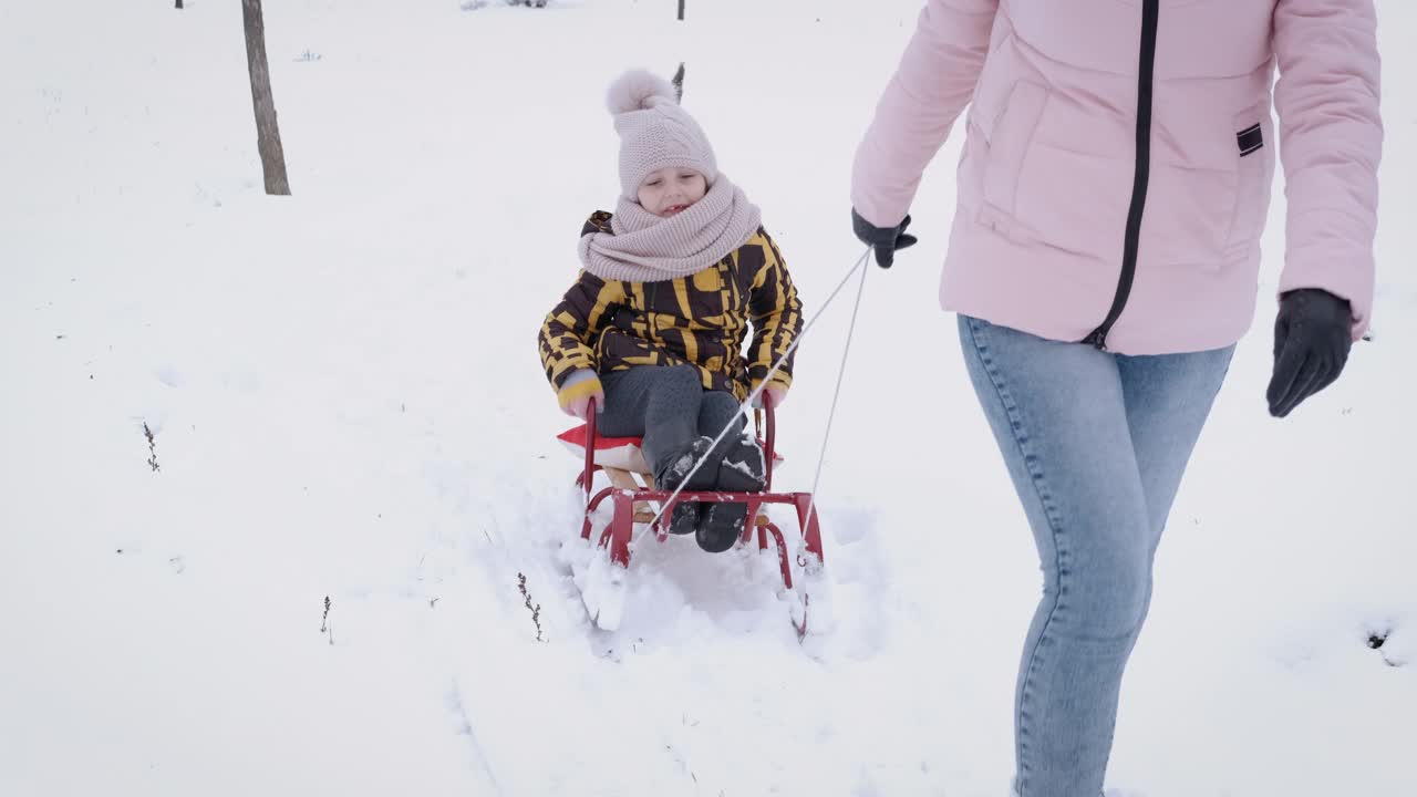
[{"label": "small child in knit hat and scarf sitting on the sled", "polygon": [[[656,488],[761,491],[762,450],[735,414],[801,332],[802,303],[757,206],[718,172],[674,88],[631,71],[608,104],[621,197],[581,230],[584,271],[546,316],[541,364],[568,414],[584,418],[594,398],[601,434],[643,437]],[[791,384],[789,359],[764,391],[777,406]],[[733,433],[710,451],[730,420]],[[718,553],[747,513],[744,503],[682,502],[669,530]]]}]

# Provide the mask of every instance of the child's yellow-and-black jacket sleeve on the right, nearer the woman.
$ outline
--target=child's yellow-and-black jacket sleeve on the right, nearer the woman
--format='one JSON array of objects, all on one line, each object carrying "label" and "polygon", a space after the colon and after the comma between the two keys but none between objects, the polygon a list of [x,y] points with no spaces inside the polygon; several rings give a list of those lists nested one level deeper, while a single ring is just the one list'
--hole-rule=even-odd
[{"label": "child's yellow-and-black jacket sleeve on the right, nearer the woman", "polygon": [[[748,349],[748,380],[752,387],[768,376],[772,363],[778,360],[792,340],[802,333],[802,302],[798,299],[796,286],[788,274],[786,262],[778,245],[762,230],[758,230],[762,248],[762,267],[752,278],[752,289],[748,294],[748,315],[752,321],[752,345]],[[768,380],[786,390],[792,386],[792,360],[782,363],[782,367]]]}]

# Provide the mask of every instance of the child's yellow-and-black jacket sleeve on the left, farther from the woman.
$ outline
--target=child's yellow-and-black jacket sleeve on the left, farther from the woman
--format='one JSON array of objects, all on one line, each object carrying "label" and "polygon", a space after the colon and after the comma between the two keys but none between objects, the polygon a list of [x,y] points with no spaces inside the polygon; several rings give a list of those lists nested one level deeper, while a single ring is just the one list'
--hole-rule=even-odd
[{"label": "child's yellow-and-black jacket sleeve on the left, farther from the woman", "polygon": [[541,366],[551,387],[560,391],[565,379],[577,370],[595,370],[595,338],[609,323],[611,308],[623,301],[623,282],[581,272],[575,285],[547,313],[537,336]]}]

